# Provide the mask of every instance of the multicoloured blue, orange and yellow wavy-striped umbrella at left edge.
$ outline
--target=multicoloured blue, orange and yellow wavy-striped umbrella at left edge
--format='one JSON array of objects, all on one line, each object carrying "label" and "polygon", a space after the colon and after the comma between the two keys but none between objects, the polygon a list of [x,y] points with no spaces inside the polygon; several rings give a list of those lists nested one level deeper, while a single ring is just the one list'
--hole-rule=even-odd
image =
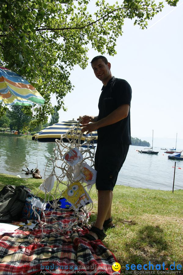
[{"label": "multicoloured blue, orange and yellow wavy-striped umbrella at left edge", "polygon": [[20,75],[0,67],[0,103],[5,105],[44,104],[44,98]]}]

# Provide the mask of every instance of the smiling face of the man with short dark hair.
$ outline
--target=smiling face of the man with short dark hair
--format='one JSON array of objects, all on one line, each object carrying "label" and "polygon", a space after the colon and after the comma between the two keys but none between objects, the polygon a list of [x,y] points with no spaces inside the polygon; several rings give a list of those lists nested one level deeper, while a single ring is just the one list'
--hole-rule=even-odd
[{"label": "smiling face of the man with short dark hair", "polygon": [[92,68],[95,76],[102,82],[107,80],[111,75],[111,64],[109,62],[108,64],[105,64],[101,58],[92,62]]}]

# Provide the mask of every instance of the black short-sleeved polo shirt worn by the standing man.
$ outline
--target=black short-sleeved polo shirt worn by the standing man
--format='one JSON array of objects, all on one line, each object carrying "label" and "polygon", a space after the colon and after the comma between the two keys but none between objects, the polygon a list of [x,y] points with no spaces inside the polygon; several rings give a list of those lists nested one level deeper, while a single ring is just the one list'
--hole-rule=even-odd
[{"label": "black short-sleeved polo shirt worn by the standing man", "polygon": [[[108,116],[120,105],[130,105],[131,95],[132,90],[129,83],[124,79],[115,78],[113,76],[108,84],[102,87],[98,103],[98,120]],[[121,141],[123,144],[131,144],[130,110],[126,118],[114,124],[99,128],[97,133],[98,143],[105,141]]]}]

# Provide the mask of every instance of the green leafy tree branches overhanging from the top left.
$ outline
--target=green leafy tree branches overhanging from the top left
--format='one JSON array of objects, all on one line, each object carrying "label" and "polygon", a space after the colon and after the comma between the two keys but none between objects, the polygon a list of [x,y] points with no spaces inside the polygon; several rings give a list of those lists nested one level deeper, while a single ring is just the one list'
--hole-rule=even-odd
[{"label": "green leafy tree branches overhanging from the top left", "polygon": [[[178,0],[167,0],[175,6]],[[90,13],[94,5],[95,12]],[[35,106],[37,122],[53,112],[50,97],[56,94],[57,109],[64,108],[64,96],[73,89],[70,70],[87,66],[89,44],[104,54],[116,53],[116,39],[122,35],[125,18],[142,29],[160,12],[163,2],[123,0],[110,5],[105,0],[0,1],[0,65],[24,76],[46,102]],[[0,105],[3,112],[4,108]]]}]

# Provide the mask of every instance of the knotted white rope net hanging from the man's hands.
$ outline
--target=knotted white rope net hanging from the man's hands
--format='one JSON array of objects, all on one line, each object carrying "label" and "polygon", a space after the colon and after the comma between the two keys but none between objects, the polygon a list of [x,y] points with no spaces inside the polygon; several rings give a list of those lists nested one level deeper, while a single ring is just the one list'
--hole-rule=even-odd
[{"label": "knotted white rope net hanging from the man's hands", "polygon": [[[74,211],[73,219],[71,222],[69,222],[69,224],[60,225],[60,223],[56,220],[56,218],[52,214],[50,214],[51,217],[53,218],[53,223],[52,223],[53,232],[57,232],[65,235],[70,230],[79,229],[79,228],[82,228],[84,225],[88,225],[88,220],[89,220],[88,212],[93,209],[92,201],[90,201],[90,203],[84,205],[78,210],[76,210],[74,207],[71,207],[69,210],[65,208],[62,209],[59,207],[60,205],[59,199],[63,197],[62,194],[64,193],[64,191],[67,188],[69,188],[69,186],[72,183],[77,182],[74,178],[74,173],[73,173],[74,170],[77,169],[77,171],[79,170],[81,171],[83,169],[83,166],[82,166],[83,163],[87,163],[90,165],[90,167],[94,168],[94,161],[93,161],[94,152],[95,152],[94,145],[93,145],[94,138],[91,134],[91,137],[90,138],[86,137],[85,141],[81,144],[81,137],[83,139],[83,136],[82,136],[83,133],[78,130],[80,122],[81,120],[79,120],[79,122],[77,123],[77,126],[76,125],[73,126],[71,129],[68,130],[68,132],[62,135],[60,138],[60,141],[58,139],[55,140],[56,146],[53,149],[52,156],[48,160],[48,162],[52,162],[53,170],[51,171],[49,177],[44,180],[42,185],[40,185],[40,187],[42,186],[42,190],[43,189],[45,190],[44,202],[42,202],[43,203],[42,208],[39,209],[42,215],[41,214],[39,215],[35,210],[35,206],[32,206],[32,209],[35,215],[37,216],[37,220],[42,229],[42,234],[39,240],[37,239],[38,241],[41,241],[43,238],[44,226],[47,226],[47,225],[50,226],[50,223],[49,224],[47,223],[46,215],[45,215],[47,211],[50,211],[50,210],[49,209],[44,210],[45,204],[47,204],[49,201],[53,201],[52,203],[49,203],[50,208],[51,207],[53,208],[52,212],[54,212],[56,209],[61,209],[64,211],[70,211],[71,209],[73,209]],[[69,138],[68,138],[68,134],[69,134]],[[63,142],[63,139],[65,140],[65,138],[68,141],[67,143]],[[86,147],[83,148],[81,147],[82,145],[85,145]],[[74,166],[71,166],[64,159],[64,156],[67,154],[67,152],[75,148],[77,148],[79,152],[82,154],[82,158],[79,161],[79,163],[77,163]],[[48,162],[46,164],[46,169],[47,169]],[[45,169],[45,172],[46,172],[46,169]],[[57,185],[53,191],[52,188],[55,180],[54,177],[56,178]],[[79,180],[79,182],[83,186],[84,190],[86,188],[88,189],[88,194],[90,196],[90,189],[92,187],[91,183],[90,182],[86,183],[86,180],[82,177]],[[38,196],[38,193],[36,194],[36,196]],[[42,220],[40,219],[40,216],[42,216]],[[77,218],[77,220],[75,218]]]}]

